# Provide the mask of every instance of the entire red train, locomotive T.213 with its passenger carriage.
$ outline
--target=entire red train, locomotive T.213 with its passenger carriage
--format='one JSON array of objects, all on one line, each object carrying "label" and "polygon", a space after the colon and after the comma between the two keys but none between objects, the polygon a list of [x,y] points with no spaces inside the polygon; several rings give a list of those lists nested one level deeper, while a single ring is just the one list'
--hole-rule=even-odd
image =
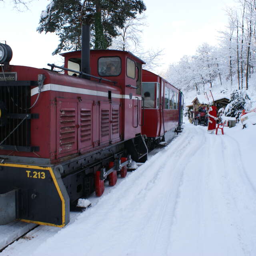
[{"label": "entire red train, locomotive T.213 with its passenger carriage", "polygon": [[178,89],[130,52],[90,51],[84,38],[82,54],[62,54],[65,74],[10,65],[0,44],[0,224],[65,226],[78,198],[102,195],[181,130]]}]

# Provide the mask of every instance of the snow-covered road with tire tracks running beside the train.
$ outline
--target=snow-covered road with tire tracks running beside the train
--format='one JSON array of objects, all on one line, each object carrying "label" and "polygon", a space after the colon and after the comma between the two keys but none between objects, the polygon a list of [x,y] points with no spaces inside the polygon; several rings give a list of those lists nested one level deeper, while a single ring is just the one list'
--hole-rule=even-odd
[{"label": "snow-covered road with tire tracks running beside the train", "polygon": [[255,256],[256,127],[240,129],[185,124],[66,228],[28,234],[0,256]]}]

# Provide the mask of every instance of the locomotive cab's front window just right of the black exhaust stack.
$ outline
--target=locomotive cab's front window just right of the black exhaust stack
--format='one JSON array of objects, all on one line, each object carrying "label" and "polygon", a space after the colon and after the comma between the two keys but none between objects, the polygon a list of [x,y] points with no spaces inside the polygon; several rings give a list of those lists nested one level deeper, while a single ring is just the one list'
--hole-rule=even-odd
[{"label": "locomotive cab's front window just right of the black exhaust stack", "polygon": [[98,60],[100,76],[119,76],[121,73],[121,59],[119,57],[102,57]]}]

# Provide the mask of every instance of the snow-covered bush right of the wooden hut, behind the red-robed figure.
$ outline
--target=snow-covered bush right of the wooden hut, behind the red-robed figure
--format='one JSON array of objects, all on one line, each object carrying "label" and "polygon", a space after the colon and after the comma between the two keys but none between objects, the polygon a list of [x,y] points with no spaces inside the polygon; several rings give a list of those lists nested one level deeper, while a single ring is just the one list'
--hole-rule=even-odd
[{"label": "snow-covered bush right of the wooden hut, behind the red-robed figure", "polygon": [[226,106],[224,114],[225,116],[235,117],[239,121],[242,110],[250,110],[251,100],[244,90],[234,90],[230,96],[230,103]]}]

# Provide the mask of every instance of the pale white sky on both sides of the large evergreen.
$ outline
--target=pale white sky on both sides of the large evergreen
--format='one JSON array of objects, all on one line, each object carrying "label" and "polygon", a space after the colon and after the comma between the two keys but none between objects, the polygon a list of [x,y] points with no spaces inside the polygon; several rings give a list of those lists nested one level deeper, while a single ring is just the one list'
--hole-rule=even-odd
[{"label": "pale white sky on both sides of the large evergreen", "polygon": [[[11,0],[0,1],[0,41],[6,40],[13,50],[11,64],[47,68],[47,63],[60,64],[60,56],[52,56],[58,45],[55,34],[36,31],[40,14],[49,0],[33,0],[30,10],[18,12]],[[184,55],[192,55],[202,43],[218,44],[218,31],[225,30],[227,7],[234,0],[144,0],[148,26],[143,27],[142,46],[164,49],[160,67],[178,62]]]}]

